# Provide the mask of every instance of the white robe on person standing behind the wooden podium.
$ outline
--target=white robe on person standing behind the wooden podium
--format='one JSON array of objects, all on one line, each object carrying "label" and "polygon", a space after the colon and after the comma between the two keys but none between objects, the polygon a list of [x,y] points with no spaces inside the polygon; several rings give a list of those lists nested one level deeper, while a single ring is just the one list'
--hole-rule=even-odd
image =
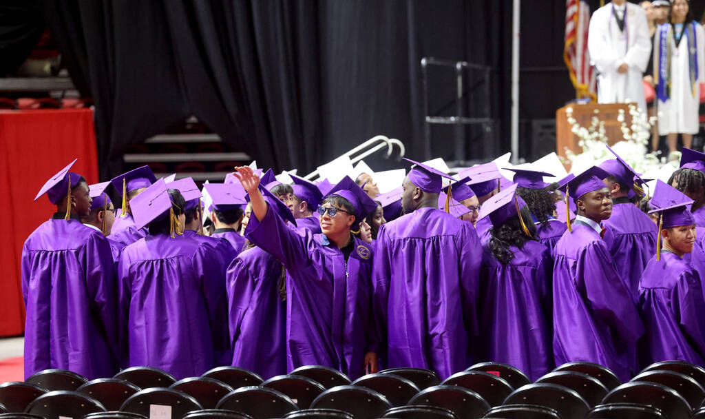
[{"label": "white robe on person standing behind the wooden podium", "polygon": [[[636,4],[626,3],[626,29],[619,30],[612,16],[613,5],[607,4],[595,11],[590,19],[587,48],[590,61],[599,71],[597,100],[600,103],[636,102],[646,111],[642,74],[649,64],[651,37],[646,13]],[[627,45],[627,41],[629,44]],[[626,63],[629,71],[617,72]]]}]

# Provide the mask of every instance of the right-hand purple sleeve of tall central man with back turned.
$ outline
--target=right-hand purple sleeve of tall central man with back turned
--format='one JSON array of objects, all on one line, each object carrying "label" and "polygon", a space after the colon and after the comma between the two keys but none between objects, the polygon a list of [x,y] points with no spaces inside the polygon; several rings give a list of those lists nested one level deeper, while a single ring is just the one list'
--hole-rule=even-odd
[{"label": "right-hand purple sleeve of tall central man with back turned", "polygon": [[[460,230],[460,293],[465,330],[470,336],[479,334],[477,303],[479,299],[479,274],[482,265],[482,244],[475,229],[463,223]],[[443,255],[439,255],[443,257]]]}]

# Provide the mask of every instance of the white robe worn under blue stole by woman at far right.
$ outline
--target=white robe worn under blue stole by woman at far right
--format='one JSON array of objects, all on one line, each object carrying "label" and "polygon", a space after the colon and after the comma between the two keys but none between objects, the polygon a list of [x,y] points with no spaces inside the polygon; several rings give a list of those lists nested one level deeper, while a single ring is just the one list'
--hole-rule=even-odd
[{"label": "white robe worn under blue stole by woman at far right", "polygon": [[[668,25],[668,23],[666,23]],[[690,24],[688,24],[690,25]],[[683,31],[685,32],[685,26]],[[675,29],[674,29],[675,32]],[[656,30],[654,54],[658,54],[661,31]],[[669,133],[697,134],[700,130],[700,83],[705,80],[705,30],[701,25],[695,25],[697,45],[698,79],[695,83],[695,95],[690,87],[690,65],[688,54],[688,38],[682,35],[678,49],[675,47],[673,35],[670,37],[670,97],[666,102],[658,99],[658,134]],[[654,65],[656,56],[654,56]],[[658,77],[658,68],[654,68],[654,79]]]}]

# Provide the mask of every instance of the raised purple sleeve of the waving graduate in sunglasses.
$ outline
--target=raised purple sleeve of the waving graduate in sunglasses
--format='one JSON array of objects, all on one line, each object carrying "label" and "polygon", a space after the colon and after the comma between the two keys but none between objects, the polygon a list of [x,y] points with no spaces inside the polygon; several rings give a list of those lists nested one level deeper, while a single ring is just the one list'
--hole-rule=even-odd
[{"label": "raised purple sleeve of the waving graduate in sunglasses", "polygon": [[262,248],[266,253],[276,257],[287,269],[307,265],[309,255],[307,241],[311,232],[297,232],[290,229],[284,221],[272,211],[267,204],[267,212],[262,221],[250,217],[245,229],[245,236]]}]

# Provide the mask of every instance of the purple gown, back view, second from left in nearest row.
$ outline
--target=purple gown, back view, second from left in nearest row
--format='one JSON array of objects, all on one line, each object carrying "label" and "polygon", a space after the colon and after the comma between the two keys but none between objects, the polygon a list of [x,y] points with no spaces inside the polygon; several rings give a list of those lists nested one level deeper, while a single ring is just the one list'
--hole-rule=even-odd
[{"label": "purple gown, back view, second from left in nearest row", "polygon": [[185,236],[147,236],[123,250],[118,269],[129,312],[129,365],[161,368],[176,379],[214,368],[229,338],[225,282],[213,248]]}]

